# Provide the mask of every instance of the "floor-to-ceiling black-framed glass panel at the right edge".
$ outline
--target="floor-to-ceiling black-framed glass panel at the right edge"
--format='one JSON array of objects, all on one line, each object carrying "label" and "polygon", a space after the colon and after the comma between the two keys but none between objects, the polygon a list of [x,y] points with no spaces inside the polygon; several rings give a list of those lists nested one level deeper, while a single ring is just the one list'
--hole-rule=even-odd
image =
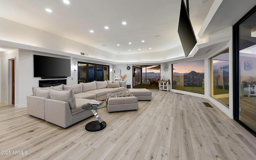
[{"label": "floor-to-ceiling black-framed glass panel at the right edge", "polygon": [[234,118],[256,135],[256,6],[233,27]]}]

